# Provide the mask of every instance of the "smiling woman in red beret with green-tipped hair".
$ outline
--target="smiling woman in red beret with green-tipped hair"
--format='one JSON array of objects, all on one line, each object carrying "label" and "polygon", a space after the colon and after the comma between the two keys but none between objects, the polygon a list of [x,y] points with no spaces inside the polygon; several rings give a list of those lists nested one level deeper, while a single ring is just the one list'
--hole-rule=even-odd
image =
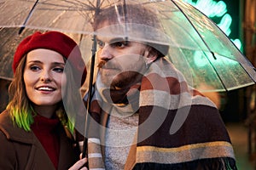
[{"label": "smiling woman in red beret with green-tipped hair", "polygon": [[35,32],[20,42],[10,102],[0,114],[0,169],[64,170],[79,160],[74,108],[84,68],[77,43],[61,32]]}]

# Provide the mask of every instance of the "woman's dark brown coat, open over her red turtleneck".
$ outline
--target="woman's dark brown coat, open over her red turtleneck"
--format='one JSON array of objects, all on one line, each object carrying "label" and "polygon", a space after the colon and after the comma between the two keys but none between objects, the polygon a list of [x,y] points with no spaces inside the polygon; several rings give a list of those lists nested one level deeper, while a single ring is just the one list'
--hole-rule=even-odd
[{"label": "woman's dark brown coat, open over her red turtleneck", "polygon": [[[79,149],[75,147],[73,139],[67,137],[61,123],[58,128],[61,141],[58,169],[67,170],[79,160]],[[55,169],[35,134],[17,127],[11,121],[8,111],[0,114],[0,169]]]}]

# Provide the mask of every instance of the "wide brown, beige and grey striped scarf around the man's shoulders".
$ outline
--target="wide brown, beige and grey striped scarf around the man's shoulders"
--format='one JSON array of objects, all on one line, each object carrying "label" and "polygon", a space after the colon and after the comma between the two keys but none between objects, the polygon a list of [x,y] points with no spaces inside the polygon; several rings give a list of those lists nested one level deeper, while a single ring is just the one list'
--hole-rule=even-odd
[{"label": "wide brown, beige and grey striped scarf around the man's shoulders", "polygon": [[[131,93],[133,89],[138,93]],[[106,101],[108,95],[96,87],[90,106],[88,157],[92,169],[104,169],[101,145],[105,130],[99,124],[104,122],[103,115],[111,114],[108,106],[119,107],[111,94],[112,102]],[[137,108],[139,115],[137,144],[131,145],[125,169],[236,169],[230,137],[218,109],[189,88],[165,58],[148,67],[139,87],[116,94],[125,94],[119,99],[125,100],[127,107]],[[134,94],[138,97],[129,99]]]}]

